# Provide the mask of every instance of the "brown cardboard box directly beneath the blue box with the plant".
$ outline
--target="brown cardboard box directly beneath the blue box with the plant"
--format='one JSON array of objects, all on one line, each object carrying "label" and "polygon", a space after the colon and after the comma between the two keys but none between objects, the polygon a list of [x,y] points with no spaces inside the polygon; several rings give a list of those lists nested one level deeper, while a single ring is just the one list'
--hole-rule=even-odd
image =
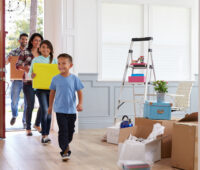
[{"label": "brown cardboard box directly beneath the blue box with the plant", "polygon": [[147,134],[149,134],[152,131],[153,125],[155,123],[160,123],[162,126],[165,127],[163,138],[161,140],[161,158],[171,157],[172,130],[173,130],[173,124],[175,122],[176,122],[175,120],[150,120],[150,119],[146,119],[146,118],[136,118],[135,119],[136,126],[148,127],[146,129],[146,132],[142,133],[144,136],[146,136]]}]

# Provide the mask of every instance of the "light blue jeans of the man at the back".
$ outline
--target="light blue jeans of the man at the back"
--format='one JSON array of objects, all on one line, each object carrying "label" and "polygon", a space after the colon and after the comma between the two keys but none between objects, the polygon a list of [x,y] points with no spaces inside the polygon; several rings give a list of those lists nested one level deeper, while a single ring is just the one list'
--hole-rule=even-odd
[{"label": "light blue jeans of the man at the back", "polygon": [[[12,109],[12,116],[17,117],[18,116],[18,103],[20,99],[20,92],[23,87],[23,82],[22,80],[14,80],[11,85],[11,109]],[[26,97],[24,96],[24,113],[23,113],[23,118],[22,122],[26,122],[26,107],[27,107],[27,102],[26,102]]]}]

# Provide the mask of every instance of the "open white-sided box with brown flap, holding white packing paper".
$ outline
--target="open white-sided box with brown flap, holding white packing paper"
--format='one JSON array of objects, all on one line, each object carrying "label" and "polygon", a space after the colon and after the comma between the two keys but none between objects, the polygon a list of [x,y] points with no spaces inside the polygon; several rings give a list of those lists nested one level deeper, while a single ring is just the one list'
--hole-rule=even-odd
[{"label": "open white-sided box with brown flap, holding white packing paper", "polygon": [[[131,131],[132,136],[137,138],[146,139],[149,133],[146,133],[148,127],[134,126]],[[153,163],[161,160],[161,136],[157,139],[147,143],[134,143],[130,140],[126,140],[124,135],[119,136],[119,164],[123,164],[124,161],[143,161],[144,163]],[[126,141],[125,141],[126,140]]]}]

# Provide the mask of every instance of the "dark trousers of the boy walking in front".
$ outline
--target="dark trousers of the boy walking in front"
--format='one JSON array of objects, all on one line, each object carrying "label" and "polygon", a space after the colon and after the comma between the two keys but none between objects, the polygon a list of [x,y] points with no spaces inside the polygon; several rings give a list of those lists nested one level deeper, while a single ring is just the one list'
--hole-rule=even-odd
[{"label": "dark trousers of the boy walking in front", "polygon": [[76,114],[56,113],[56,118],[59,128],[58,143],[62,152],[64,152],[73,139]]}]

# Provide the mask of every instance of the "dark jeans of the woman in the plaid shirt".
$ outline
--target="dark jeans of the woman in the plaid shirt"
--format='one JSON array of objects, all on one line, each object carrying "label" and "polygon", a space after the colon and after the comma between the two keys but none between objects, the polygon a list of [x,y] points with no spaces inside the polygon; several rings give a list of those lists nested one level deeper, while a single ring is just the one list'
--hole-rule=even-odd
[{"label": "dark jeans of the woman in the plaid shirt", "polygon": [[[27,107],[26,107],[26,130],[31,130],[31,119],[32,112],[35,104],[35,91],[32,88],[32,85],[23,85],[24,95],[26,96]],[[41,120],[41,110],[38,109],[36,122],[40,122]]]}]

